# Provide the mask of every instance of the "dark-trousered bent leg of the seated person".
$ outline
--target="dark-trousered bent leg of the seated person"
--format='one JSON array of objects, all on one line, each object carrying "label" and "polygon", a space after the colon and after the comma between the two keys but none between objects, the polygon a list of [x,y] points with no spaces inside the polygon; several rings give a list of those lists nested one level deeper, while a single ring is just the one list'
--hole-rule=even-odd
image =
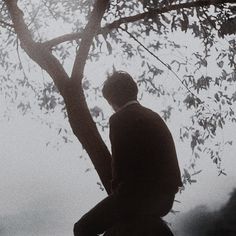
[{"label": "dark-trousered bent leg of the seated person", "polygon": [[140,196],[142,194],[114,193],[85,214],[74,226],[75,236],[96,236],[115,223],[138,215],[166,215],[173,204],[174,195]]}]

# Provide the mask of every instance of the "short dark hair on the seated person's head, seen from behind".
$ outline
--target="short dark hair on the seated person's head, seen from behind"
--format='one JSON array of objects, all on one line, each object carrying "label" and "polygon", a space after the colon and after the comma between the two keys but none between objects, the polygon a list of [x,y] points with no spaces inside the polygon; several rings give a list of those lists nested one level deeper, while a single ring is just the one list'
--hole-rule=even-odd
[{"label": "short dark hair on the seated person's head, seen from behind", "polygon": [[108,75],[102,93],[108,102],[123,106],[131,100],[137,100],[138,86],[127,72],[115,71]]}]

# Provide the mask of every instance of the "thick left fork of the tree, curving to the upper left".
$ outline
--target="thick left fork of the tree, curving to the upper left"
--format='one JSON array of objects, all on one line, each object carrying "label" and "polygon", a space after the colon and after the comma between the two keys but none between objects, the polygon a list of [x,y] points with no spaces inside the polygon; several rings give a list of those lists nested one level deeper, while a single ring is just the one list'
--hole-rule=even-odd
[{"label": "thick left fork of the tree, curving to the upper left", "polygon": [[67,79],[69,79],[61,63],[54,57],[43,44],[36,43],[23,19],[23,12],[17,6],[17,0],[5,0],[10,13],[13,27],[20,39],[21,46],[42,69],[52,77],[61,94],[64,93]]}]

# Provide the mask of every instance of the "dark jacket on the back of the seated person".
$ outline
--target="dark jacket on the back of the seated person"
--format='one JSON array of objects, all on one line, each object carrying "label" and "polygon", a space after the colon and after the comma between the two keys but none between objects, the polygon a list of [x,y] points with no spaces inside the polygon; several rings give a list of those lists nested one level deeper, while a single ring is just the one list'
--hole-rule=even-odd
[{"label": "dark jacket on the back of the seated person", "polygon": [[182,186],[175,145],[161,117],[132,104],[110,118],[112,186],[144,186],[177,192]]}]

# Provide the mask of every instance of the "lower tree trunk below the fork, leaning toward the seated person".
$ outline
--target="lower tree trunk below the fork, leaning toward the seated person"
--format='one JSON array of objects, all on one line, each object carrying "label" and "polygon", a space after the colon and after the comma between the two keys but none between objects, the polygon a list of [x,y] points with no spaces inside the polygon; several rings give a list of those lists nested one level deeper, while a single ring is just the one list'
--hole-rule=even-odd
[{"label": "lower tree trunk below the fork, leaning toward the seated person", "polygon": [[73,133],[87,151],[107,193],[111,191],[111,155],[94,123],[81,83],[70,81],[64,101]]}]

